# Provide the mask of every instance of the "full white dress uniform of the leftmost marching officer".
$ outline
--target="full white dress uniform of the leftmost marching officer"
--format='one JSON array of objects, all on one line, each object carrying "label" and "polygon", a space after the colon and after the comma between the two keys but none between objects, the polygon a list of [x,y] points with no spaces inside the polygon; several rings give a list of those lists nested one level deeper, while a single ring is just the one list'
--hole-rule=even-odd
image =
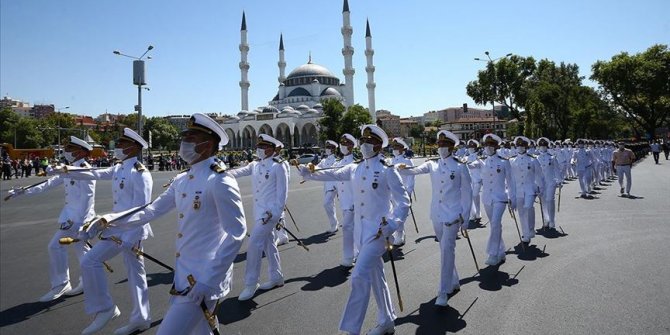
[{"label": "full white dress uniform of the leftmost marching officer", "polygon": [[[83,158],[75,161],[72,165],[83,168],[91,167]],[[65,206],[58,216],[60,230],[49,241],[49,278],[52,289],[62,285],[67,286],[70,283],[67,247],[58,243],[58,240],[63,237],[76,238],[81,225],[95,217],[95,210],[93,209],[95,204],[94,180],[74,180],[67,176],[57,175],[49,178],[44,184],[26,189],[24,194],[42,193],[61,184],[65,189]],[[75,243],[74,247],[79,264],[81,264],[89,247],[83,241]]]}]

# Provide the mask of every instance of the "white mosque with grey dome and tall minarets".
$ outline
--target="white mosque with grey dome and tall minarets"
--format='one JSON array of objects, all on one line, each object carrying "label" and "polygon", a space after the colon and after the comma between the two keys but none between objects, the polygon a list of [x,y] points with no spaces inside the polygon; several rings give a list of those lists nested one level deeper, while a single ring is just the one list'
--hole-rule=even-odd
[{"label": "white mosque with grey dome and tall minarets", "polygon": [[[372,62],[372,34],[370,23],[366,22],[365,56],[367,66],[368,108],[372,119],[375,119],[375,67]],[[246,149],[256,145],[259,134],[269,134],[280,140],[286,147],[302,147],[318,145],[318,120],[322,117],[324,99],[336,99],[347,108],[354,104],[354,73],[352,57],[354,48],[351,45],[353,28],[350,23],[349,2],[344,0],[342,9],[342,56],[344,57],[344,83],[324,66],[312,62],[311,56],[307,64],[293,69],[285,75],[284,37],[279,37],[279,88],[277,94],[267,106],[249,109],[248,80],[250,64],[247,61],[249,43],[247,42],[247,23],[242,13],[240,29],[240,90],[241,111],[236,116],[223,121],[222,126],[230,138],[229,147]]]}]

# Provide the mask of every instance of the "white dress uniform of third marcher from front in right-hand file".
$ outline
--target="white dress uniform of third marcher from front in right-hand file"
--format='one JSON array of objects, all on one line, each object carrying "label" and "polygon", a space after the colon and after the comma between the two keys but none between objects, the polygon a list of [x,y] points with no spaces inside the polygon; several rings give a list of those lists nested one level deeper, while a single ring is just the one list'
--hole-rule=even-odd
[{"label": "white dress uniform of third marcher from front in right-hand file", "polygon": [[482,161],[481,176],[482,203],[491,227],[486,253],[499,262],[505,259],[502,216],[507,203],[516,197],[512,167],[506,158],[494,154]]}]

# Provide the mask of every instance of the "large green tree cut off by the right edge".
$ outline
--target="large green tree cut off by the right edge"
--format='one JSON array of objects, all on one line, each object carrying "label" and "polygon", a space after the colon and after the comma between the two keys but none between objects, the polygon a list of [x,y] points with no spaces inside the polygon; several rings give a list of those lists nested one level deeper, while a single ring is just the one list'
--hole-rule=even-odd
[{"label": "large green tree cut off by the right edge", "polygon": [[592,66],[591,79],[627,119],[655,137],[670,121],[670,51],[657,44],[629,55],[622,52]]}]

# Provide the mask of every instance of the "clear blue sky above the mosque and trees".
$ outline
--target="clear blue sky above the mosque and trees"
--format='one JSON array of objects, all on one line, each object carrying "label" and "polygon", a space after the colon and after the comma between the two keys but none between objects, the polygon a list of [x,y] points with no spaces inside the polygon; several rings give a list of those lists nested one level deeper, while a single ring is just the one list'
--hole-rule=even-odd
[{"label": "clear blue sky above the mosque and trees", "polygon": [[[355,100],[367,107],[365,20],[372,28],[377,109],[420,115],[468,103],[465,86],[507,53],[591,65],[670,44],[668,0],[350,0]],[[2,0],[0,94],[70,106],[77,114],[128,114],[137,102],[132,64],[147,63],[147,116],[240,110],[240,20],[247,14],[250,108],[277,92],[279,34],[287,74],[307,62],[343,80],[341,0]]]}]

